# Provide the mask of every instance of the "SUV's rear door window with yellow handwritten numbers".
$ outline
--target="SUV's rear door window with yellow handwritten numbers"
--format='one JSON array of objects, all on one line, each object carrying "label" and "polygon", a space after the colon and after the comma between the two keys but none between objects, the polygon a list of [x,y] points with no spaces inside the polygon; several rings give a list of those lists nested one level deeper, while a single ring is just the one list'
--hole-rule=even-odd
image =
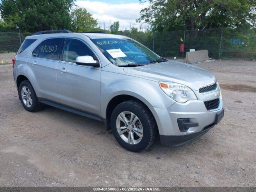
[{"label": "SUV's rear door window with yellow handwritten numbers", "polygon": [[59,59],[59,53],[62,51],[62,39],[47,39],[44,40],[33,52],[33,56],[47,59]]}]

